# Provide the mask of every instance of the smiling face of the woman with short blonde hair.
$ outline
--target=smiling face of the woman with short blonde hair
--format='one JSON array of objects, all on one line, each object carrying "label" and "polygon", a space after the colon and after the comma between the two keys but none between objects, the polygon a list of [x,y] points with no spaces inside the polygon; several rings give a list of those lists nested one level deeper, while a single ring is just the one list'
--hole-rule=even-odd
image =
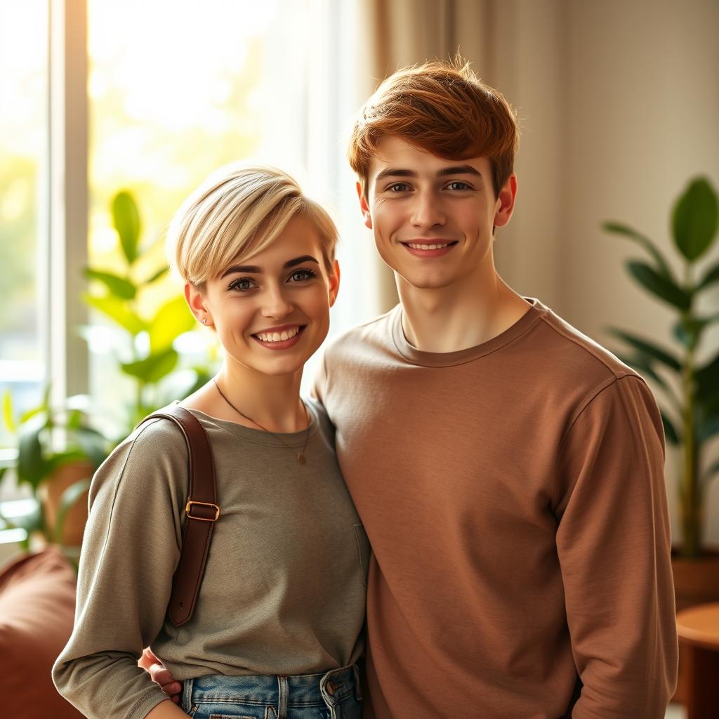
[{"label": "smiling face of the woman with short blonde hair", "polygon": [[228,364],[286,375],[322,344],[338,287],[339,267],[326,270],[319,232],[296,215],[270,247],[233,262],[202,291],[186,285],[186,297],[215,329]]}]

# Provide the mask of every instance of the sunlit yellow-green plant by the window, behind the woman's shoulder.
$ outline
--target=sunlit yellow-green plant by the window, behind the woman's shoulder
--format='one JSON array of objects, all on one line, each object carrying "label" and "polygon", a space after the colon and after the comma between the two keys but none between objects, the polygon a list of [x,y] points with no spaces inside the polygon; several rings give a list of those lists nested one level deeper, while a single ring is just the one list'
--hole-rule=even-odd
[{"label": "sunlit yellow-green plant by the window, behind the woman's shoulder", "polygon": [[87,267],[85,275],[94,288],[84,299],[124,334],[126,354],[119,359],[119,369],[134,381],[134,397],[127,403],[126,421],[119,428],[118,439],[122,439],[147,414],[203,385],[209,379],[209,370],[192,367],[184,382],[173,381],[178,380],[170,375],[179,359],[173,343],[180,334],[196,326],[195,319],[180,294],[148,313],[142,298],[168,273],[168,266],[162,262],[150,271],[144,267],[147,252],[152,248],[140,247],[142,221],[131,193],[121,191],[114,196],[111,216],[121,249],[119,269],[109,272]]}]

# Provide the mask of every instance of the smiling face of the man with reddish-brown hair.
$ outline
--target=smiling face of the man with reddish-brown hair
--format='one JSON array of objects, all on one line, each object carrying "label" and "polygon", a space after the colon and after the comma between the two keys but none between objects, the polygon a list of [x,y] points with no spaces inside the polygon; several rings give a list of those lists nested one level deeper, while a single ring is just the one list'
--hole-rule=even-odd
[{"label": "smiling face of the man with reddish-brown hair", "polygon": [[385,137],[360,201],[387,265],[415,288],[440,289],[493,270],[493,226],[507,224],[515,194],[512,175],[495,197],[486,157],[444,160]]}]

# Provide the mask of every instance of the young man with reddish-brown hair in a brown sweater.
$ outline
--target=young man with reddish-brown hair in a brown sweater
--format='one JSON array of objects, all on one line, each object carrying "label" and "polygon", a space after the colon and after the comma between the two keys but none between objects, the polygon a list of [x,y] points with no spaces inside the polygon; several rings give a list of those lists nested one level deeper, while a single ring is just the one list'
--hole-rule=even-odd
[{"label": "young man with reddish-brown hair in a brown sweater", "polygon": [[659,719],[677,673],[644,380],[495,269],[518,128],[467,67],[386,80],[349,149],[400,305],[316,393],[372,544],[367,715]]}]

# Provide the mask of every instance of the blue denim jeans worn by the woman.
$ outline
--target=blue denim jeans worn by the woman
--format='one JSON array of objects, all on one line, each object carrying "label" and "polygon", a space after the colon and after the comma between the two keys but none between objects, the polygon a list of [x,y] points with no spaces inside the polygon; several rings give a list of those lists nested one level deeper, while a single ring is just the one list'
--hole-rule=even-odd
[{"label": "blue denim jeans worn by the woman", "polygon": [[186,679],[182,708],[193,719],[360,719],[359,672]]}]

